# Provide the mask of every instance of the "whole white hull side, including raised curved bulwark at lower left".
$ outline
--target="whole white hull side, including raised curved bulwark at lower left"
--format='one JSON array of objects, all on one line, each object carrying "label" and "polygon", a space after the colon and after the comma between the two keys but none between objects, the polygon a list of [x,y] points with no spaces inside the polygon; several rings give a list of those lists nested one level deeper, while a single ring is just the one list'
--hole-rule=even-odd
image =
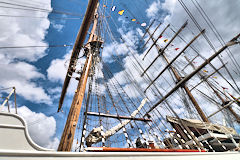
[{"label": "whole white hull side, including raised curved bulwark at lower left", "polygon": [[0,160],[240,160],[240,152],[56,152],[35,144],[21,117],[0,112]]}]

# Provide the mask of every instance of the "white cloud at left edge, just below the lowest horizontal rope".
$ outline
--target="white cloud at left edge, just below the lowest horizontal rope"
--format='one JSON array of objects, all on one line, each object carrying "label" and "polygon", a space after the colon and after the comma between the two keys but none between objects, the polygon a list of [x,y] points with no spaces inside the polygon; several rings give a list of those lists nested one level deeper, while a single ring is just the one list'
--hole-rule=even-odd
[{"label": "white cloud at left edge, just below the lowest horizontal rope", "polygon": [[16,62],[0,64],[0,69],[1,87],[15,86],[17,94],[29,101],[51,104],[51,99],[44,89],[34,83],[36,79],[44,78],[44,75],[39,73],[34,66],[25,62]]}]

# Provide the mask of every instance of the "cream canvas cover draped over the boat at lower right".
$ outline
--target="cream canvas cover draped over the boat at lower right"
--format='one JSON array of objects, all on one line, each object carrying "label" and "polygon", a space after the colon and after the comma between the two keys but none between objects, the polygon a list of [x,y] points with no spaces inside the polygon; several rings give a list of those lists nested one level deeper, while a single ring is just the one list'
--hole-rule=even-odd
[{"label": "cream canvas cover draped over the boat at lower right", "polygon": [[[170,123],[175,123],[175,124],[181,125],[178,118],[167,116],[166,119]],[[197,120],[197,119],[181,119],[181,120],[188,127],[193,127],[193,128],[197,128],[197,129],[204,129],[204,130],[206,129],[206,130],[210,130],[210,131],[213,131],[213,132],[219,132],[219,133],[224,133],[224,134],[232,134],[232,135],[237,134],[235,129],[229,128],[229,127],[226,127],[226,126],[222,126],[222,125],[219,125],[219,124],[202,122],[202,121]]]}]

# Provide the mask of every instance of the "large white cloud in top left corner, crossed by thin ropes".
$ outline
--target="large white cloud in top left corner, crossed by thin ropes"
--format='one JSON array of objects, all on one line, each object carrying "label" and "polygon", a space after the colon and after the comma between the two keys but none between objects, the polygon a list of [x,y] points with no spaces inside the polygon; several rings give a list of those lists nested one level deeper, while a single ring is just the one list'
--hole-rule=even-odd
[{"label": "large white cloud in top left corner, crossed by thin ropes", "polygon": [[[44,0],[47,3],[46,9],[51,10],[50,0]],[[18,2],[18,4],[21,4]],[[2,8],[1,14],[6,15],[29,15],[29,11],[17,9]],[[33,17],[46,18],[19,18],[19,17],[0,17],[1,20],[1,46],[47,46],[44,42],[46,30],[49,28],[50,22],[47,18],[47,12],[33,12]],[[9,25],[11,24],[11,25]],[[10,59],[24,59],[28,61],[36,61],[45,55],[46,48],[24,48],[24,49],[5,49],[0,53]]]}]

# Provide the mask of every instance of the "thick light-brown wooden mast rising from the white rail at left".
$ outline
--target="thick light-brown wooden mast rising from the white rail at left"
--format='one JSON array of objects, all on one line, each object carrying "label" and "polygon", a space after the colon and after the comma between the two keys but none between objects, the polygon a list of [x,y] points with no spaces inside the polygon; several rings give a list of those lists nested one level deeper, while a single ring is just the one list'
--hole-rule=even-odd
[{"label": "thick light-brown wooden mast rising from the white rail at left", "polygon": [[92,66],[93,56],[95,54],[91,43],[97,42],[97,36],[95,35],[95,30],[97,28],[97,22],[98,22],[97,6],[98,5],[96,5],[95,7],[93,27],[89,36],[88,43],[85,46],[85,48],[87,49],[87,59],[85,61],[84,68],[81,73],[81,77],[77,86],[77,90],[75,92],[75,95],[72,101],[67,122],[65,124],[61,141],[58,146],[58,151],[71,151],[71,148],[72,148],[74,134],[77,127],[77,122],[79,119],[82,101],[83,101],[83,97],[86,89],[87,79]]}]

